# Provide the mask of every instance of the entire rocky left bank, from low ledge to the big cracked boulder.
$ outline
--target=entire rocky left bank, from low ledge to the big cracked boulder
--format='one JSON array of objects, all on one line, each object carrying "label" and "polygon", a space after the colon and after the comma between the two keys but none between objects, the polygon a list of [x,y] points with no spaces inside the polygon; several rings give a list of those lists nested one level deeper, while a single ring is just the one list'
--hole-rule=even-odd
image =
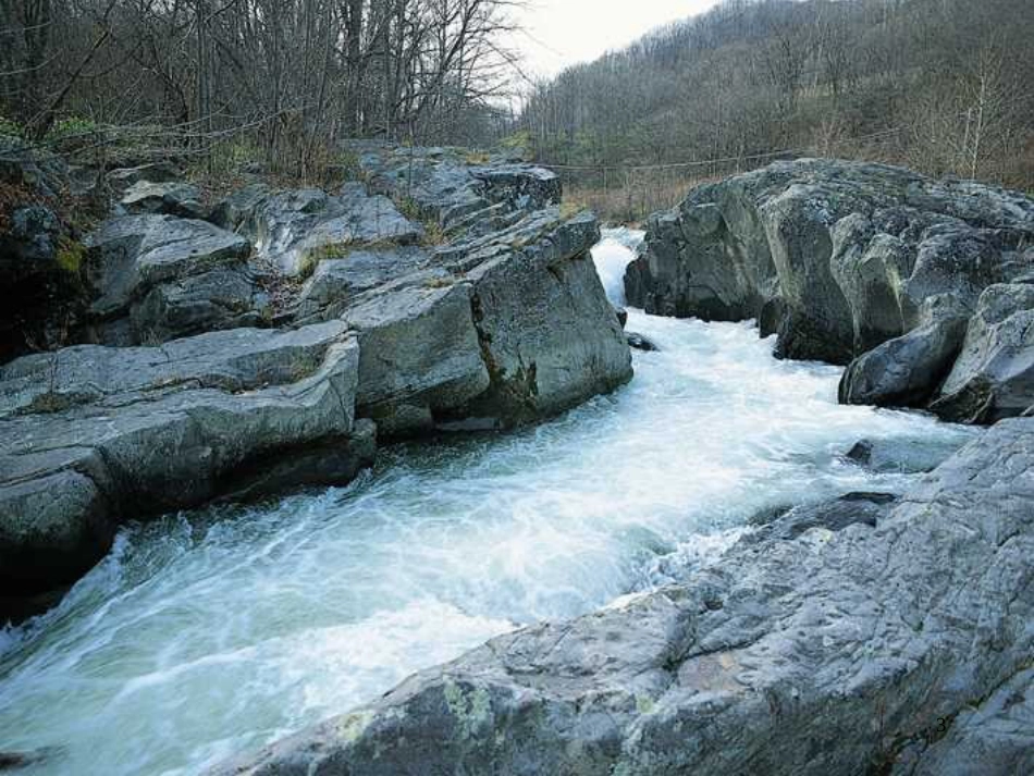
[{"label": "entire rocky left bank, from low ledge to the big cracked boulder", "polygon": [[378,438],[509,428],[626,382],[595,219],[561,212],[549,171],[477,161],[365,146],[335,194],[210,206],[162,167],[116,171],[81,267],[58,239],[12,248],[26,278],[82,282],[69,337],[90,344],[0,367],[7,594],[73,581],[126,520],[342,484]]}]

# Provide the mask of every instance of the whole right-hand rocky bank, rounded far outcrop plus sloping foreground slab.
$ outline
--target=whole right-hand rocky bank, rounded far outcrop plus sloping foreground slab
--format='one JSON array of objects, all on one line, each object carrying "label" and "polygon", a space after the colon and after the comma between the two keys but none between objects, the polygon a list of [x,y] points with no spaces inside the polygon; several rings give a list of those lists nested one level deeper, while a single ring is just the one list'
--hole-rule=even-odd
[{"label": "whole right-hand rocky bank, rounded far outcrop plus sloping foreground slab", "polygon": [[[845,401],[992,422],[1034,404],[1032,215],[972,184],[780,163],[655,217],[626,288],[852,362]],[[903,496],[766,515],[670,587],[490,641],[218,773],[1026,773],[1032,423],[998,422]]]}]

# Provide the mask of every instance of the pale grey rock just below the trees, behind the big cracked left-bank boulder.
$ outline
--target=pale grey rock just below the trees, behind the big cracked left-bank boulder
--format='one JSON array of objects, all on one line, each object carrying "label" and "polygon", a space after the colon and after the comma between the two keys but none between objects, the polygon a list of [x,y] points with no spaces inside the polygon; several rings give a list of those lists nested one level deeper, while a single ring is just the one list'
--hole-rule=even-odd
[{"label": "pale grey rock just below the trees, behind the big cracked left-bank boulder", "polygon": [[220,202],[214,213],[216,223],[251,237],[259,256],[293,276],[307,276],[322,260],[353,249],[411,245],[424,236],[387,197],[370,196],[358,183],[336,196],[318,188],[251,186]]}]

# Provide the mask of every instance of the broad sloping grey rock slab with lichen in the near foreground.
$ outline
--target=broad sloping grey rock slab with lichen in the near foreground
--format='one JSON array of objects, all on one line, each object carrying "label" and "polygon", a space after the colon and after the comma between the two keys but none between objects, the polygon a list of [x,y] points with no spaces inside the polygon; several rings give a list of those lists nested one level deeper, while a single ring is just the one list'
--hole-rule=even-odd
[{"label": "broad sloping grey rock slab with lichen in the near foreground", "polygon": [[[1026,773],[1032,552],[1034,420],[1007,420],[875,528],[741,542],[216,773],[825,776],[888,772],[912,748],[939,773],[996,741],[980,773]],[[997,727],[972,725],[973,706]]]}]

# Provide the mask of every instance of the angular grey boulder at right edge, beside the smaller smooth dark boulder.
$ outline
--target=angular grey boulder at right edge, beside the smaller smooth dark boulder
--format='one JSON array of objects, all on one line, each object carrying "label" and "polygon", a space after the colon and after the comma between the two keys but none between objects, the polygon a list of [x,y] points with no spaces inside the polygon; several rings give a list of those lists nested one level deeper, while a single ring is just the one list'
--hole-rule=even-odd
[{"label": "angular grey boulder at right edge, beside the smaller smooth dark boulder", "polygon": [[994,422],[1034,405],[1034,286],[993,285],[931,409],[961,422]]}]

